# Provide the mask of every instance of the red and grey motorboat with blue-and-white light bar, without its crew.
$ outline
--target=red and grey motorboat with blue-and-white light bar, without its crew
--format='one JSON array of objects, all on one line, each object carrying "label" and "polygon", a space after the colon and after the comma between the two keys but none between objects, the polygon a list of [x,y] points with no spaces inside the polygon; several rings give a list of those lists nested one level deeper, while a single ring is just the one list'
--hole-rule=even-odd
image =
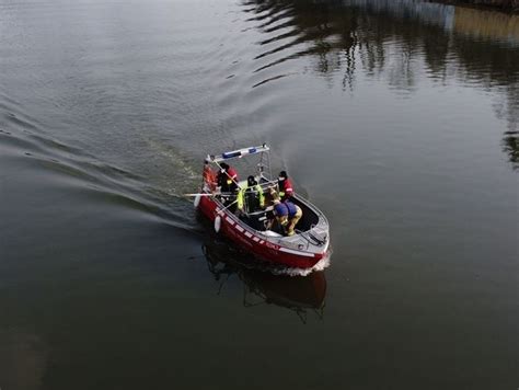
[{"label": "red and grey motorboat with blue-and-white light bar, without its crew", "polygon": [[[201,191],[195,194],[195,207],[214,221],[215,230],[229,238],[237,245],[250,252],[258,260],[288,268],[299,268],[308,274],[322,269],[327,264],[330,246],[330,226],[326,217],[314,205],[293,194],[290,202],[302,210],[292,236],[284,236],[282,229],[274,229],[269,221],[274,219],[273,188],[279,192],[278,181],[273,180],[270,169],[270,149],[266,145],[251,147],[206,158]],[[246,160],[249,168],[255,160],[254,176],[256,184],[247,187],[247,181],[235,180],[234,174],[226,173],[232,180],[235,191],[221,192],[216,187],[211,175],[215,170],[224,172],[228,162]],[[242,161],[240,161],[242,162]],[[211,173],[212,172],[212,173]],[[245,190],[246,188],[246,190]],[[254,206],[240,196],[262,193],[264,202]],[[262,199],[263,200],[263,199]],[[239,209],[237,209],[237,203]],[[276,231],[277,230],[277,231]]]}]

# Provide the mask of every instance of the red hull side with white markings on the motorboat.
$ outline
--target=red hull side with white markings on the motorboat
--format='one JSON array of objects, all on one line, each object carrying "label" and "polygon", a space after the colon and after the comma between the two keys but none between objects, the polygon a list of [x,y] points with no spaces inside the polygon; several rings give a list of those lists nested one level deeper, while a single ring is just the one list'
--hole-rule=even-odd
[{"label": "red hull side with white markings on the motorboat", "polygon": [[[215,221],[217,217],[217,208],[218,204],[210,197],[203,196],[200,198],[198,209],[211,221]],[[257,257],[290,268],[312,268],[326,254],[325,252],[296,251],[277,245],[267,241],[265,237],[256,236],[253,229],[241,223],[235,216],[229,213],[222,215],[220,233]]]}]

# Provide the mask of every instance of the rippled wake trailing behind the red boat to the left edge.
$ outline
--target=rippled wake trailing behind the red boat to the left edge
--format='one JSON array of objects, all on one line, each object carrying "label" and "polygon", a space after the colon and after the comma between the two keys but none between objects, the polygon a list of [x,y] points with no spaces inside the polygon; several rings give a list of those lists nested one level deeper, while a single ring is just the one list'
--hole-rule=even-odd
[{"label": "rippled wake trailing behind the red boat to the left edge", "polygon": [[181,194],[153,187],[142,176],[57,141],[45,135],[35,119],[9,108],[0,122],[0,160],[4,168],[26,167],[31,175],[44,175],[80,203],[139,211],[172,227],[196,231],[185,215]]}]

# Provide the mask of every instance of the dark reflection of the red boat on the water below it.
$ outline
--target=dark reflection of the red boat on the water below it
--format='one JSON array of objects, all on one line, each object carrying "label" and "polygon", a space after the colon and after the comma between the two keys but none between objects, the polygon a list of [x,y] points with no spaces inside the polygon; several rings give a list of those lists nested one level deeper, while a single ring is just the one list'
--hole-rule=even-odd
[{"label": "dark reflection of the red boat on the water below it", "polygon": [[243,283],[243,306],[276,305],[297,313],[303,323],[309,313],[323,319],[326,279],[324,272],[307,276],[274,275],[232,243],[210,237],[203,245],[209,272],[220,283],[220,294],[230,276]]}]

